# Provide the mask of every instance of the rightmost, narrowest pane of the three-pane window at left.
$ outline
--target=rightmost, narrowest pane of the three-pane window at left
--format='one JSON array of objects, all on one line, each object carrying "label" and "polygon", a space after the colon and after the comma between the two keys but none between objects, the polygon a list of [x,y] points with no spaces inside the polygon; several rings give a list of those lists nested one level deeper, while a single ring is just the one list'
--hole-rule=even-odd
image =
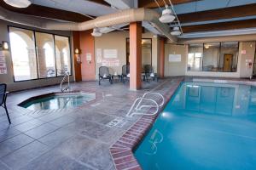
[{"label": "rightmost, narrowest pane of the three-pane window at left", "polygon": [[63,76],[66,71],[70,73],[71,65],[68,37],[55,36],[55,55],[57,76]]}]

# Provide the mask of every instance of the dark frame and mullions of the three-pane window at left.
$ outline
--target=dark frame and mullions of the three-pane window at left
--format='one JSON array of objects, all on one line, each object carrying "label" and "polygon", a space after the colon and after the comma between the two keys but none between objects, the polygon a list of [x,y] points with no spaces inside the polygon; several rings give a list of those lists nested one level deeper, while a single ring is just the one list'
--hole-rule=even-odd
[{"label": "dark frame and mullions of the three-pane window at left", "polygon": [[[15,74],[14,74],[14,63],[13,63],[13,58],[12,58],[12,53],[11,50],[9,50],[10,53],[10,60],[11,60],[11,65],[12,65],[12,69],[13,69],[13,79],[14,82],[28,82],[28,81],[35,81],[35,80],[44,80],[44,79],[52,79],[52,78],[58,78],[58,77],[65,77],[65,75],[62,76],[58,76],[57,74],[55,74],[55,77],[43,77],[43,78],[39,78],[39,71],[38,71],[38,52],[37,52],[37,37],[36,37],[36,32],[38,33],[45,33],[45,34],[49,34],[53,36],[54,39],[54,52],[55,52],[55,71],[57,71],[56,69],[56,51],[55,51],[55,36],[60,36],[60,37],[67,37],[68,38],[68,46],[69,46],[69,54],[70,54],[70,73],[69,76],[73,76],[73,54],[72,54],[72,48],[71,48],[71,37],[70,36],[63,36],[61,34],[55,34],[55,33],[49,33],[47,31],[36,31],[36,30],[32,30],[29,28],[24,28],[24,27],[20,27],[20,26],[7,26],[7,30],[8,30],[8,34],[10,33],[10,29],[11,27],[13,28],[18,28],[18,29],[23,29],[26,31],[32,31],[33,32],[33,37],[34,37],[34,47],[36,49],[36,60],[37,60],[37,74],[38,74],[38,78],[33,78],[33,79],[28,79],[28,80],[20,80],[20,81],[16,81],[15,80]],[[11,47],[9,47],[11,48]]]}]

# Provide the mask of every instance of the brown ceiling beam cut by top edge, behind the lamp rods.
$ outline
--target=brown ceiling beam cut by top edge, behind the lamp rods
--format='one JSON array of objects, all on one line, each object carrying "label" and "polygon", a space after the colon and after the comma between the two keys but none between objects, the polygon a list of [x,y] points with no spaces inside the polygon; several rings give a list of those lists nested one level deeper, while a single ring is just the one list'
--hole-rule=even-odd
[{"label": "brown ceiling beam cut by top edge, behind the lamp rods", "polygon": [[[169,0],[165,0],[166,3],[169,5]],[[201,0],[172,0],[173,5],[181,4],[181,3],[191,3],[195,1],[201,1]],[[158,5],[154,2],[154,0],[138,0],[138,6],[140,8],[158,8]],[[157,3],[159,3],[160,7],[165,7],[165,3],[163,0],[157,0]]]}]

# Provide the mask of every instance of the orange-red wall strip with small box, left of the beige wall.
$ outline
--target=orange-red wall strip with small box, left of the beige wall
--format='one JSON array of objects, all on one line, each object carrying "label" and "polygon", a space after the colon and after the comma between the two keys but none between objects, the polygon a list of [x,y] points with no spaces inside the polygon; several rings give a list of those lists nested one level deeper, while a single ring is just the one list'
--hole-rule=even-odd
[{"label": "orange-red wall strip with small box, left of the beige wall", "polygon": [[[92,31],[80,31],[80,48],[81,48],[81,71],[82,80],[96,80],[95,54],[94,54],[94,37],[90,35]],[[86,54],[91,54],[90,64],[86,60]]]}]

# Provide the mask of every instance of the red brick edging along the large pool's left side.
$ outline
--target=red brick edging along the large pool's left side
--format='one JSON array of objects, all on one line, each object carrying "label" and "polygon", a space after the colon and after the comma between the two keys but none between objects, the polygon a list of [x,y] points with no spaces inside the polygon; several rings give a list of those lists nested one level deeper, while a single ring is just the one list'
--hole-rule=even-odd
[{"label": "red brick edging along the large pool's left side", "polygon": [[177,83],[168,88],[164,94],[165,103],[154,116],[141,116],[122,136],[109,148],[110,155],[116,170],[141,170],[133,150],[143,140],[148,130],[153,126],[154,121],[160,112],[164,110],[166,104],[175,94],[177,88],[184,81],[184,78],[177,79]]}]

